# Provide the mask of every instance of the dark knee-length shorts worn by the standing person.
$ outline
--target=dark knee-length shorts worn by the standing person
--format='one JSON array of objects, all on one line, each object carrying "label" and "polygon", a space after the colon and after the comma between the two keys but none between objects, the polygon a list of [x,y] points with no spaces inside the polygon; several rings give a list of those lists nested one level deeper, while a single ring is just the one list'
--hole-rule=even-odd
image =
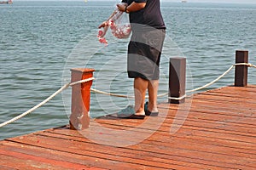
[{"label": "dark knee-length shorts worn by the standing person", "polygon": [[133,31],[128,45],[128,77],[158,80],[160,55],[166,37],[165,29]]}]

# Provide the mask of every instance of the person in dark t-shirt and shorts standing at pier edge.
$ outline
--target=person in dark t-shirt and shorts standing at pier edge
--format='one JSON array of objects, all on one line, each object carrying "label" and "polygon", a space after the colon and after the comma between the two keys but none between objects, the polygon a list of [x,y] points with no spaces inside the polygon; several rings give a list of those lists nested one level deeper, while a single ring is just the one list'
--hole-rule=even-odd
[{"label": "person in dark t-shirt and shorts standing at pier edge", "polygon": [[[135,113],[125,118],[158,116],[157,92],[160,55],[166,26],[160,12],[160,0],[122,0],[119,11],[129,14],[131,40],[128,45],[128,77],[134,78]],[[104,27],[104,23],[99,28]],[[148,90],[148,106],[144,108]]]}]

